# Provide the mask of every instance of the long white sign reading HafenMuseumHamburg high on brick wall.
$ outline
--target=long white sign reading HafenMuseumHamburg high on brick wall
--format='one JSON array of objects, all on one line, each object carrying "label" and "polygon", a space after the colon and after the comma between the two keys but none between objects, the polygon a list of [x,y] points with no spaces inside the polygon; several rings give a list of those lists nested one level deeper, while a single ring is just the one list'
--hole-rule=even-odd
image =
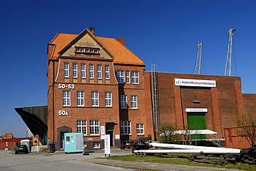
[{"label": "long white sign reading HafenMuseumHamburg high on brick wall", "polygon": [[193,87],[216,87],[214,80],[200,80],[200,79],[175,79],[175,86],[193,86]]}]

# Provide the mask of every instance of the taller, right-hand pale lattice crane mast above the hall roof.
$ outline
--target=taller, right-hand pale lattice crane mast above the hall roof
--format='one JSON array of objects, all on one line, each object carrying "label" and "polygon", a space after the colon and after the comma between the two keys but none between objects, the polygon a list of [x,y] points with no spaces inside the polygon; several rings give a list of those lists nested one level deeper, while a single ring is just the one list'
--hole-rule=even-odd
[{"label": "taller, right-hand pale lattice crane mast above the hall roof", "polygon": [[232,37],[235,32],[235,29],[229,30],[229,39],[228,39],[228,52],[226,59],[226,67],[225,67],[225,76],[231,76],[231,54],[232,54]]}]

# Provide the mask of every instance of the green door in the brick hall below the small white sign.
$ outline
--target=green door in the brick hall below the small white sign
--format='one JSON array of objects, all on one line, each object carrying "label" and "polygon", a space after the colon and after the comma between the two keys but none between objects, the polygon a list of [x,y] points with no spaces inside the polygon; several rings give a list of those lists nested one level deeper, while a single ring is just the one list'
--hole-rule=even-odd
[{"label": "green door in the brick hall below the small white sign", "polygon": [[[188,130],[205,130],[204,112],[188,112]],[[206,135],[191,135],[191,139],[206,139]]]}]

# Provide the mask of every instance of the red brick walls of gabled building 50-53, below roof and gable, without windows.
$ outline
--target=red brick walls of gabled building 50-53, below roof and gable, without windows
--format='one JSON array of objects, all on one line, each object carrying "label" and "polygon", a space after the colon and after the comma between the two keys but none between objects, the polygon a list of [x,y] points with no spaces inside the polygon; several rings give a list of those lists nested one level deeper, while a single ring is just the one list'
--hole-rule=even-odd
[{"label": "red brick walls of gabled building 50-53, below roof and gable, without windows", "polygon": [[[51,56],[51,54],[48,54]],[[69,77],[64,78],[64,63],[69,64]],[[77,63],[77,78],[72,77],[72,64]],[[86,65],[86,78],[81,78],[80,65]],[[94,78],[89,78],[89,64],[94,66]],[[102,66],[102,79],[97,78],[97,65]],[[104,66],[109,66],[109,77],[105,79]],[[129,70],[139,72],[139,84],[125,83],[118,84],[116,80],[116,70]],[[136,140],[139,137],[152,134],[152,112],[151,108],[145,109],[145,103],[150,104],[150,101],[145,101],[144,90],[144,70],[145,66],[131,65],[113,65],[112,61],[103,60],[87,60],[77,59],[76,57],[61,57],[58,60],[48,61],[48,143],[55,143],[56,150],[60,149],[60,128],[64,126],[71,128],[72,132],[77,132],[77,120],[86,120],[86,135],[84,141],[89,147],[95,141],[102,141],[100,135],[91,135],[90,120],[98,120],[100,125],[114,123],[113,141],[114,145],[120,148],[124,140]],[[131,75],[130,75],[131,78]],[[73,85],[74,88],[69,89],[66,86]],[[64,85],[62,87],[62,85]],[[60,88],[61,87],[61,88]],[[62,92],[70,91],[71,105],[64,106],[62,103]],[[77,106],[77,91],[84,91],[84,106]],[[91,105],[91,92],[99,93],[99,106]],[[112,106],[105,107],[104,92],[112,93]],[[120,94],[127,95],[128,109],[120,109]],[[131,95],[136,95],[138,98],[138,109],[131,109]],[[149,97],[150,94],[147,94]],[[66,115],[60,115],[59,112],[64,111]],[[120,121],[131,121],[131,134],[122,136],[120,134]],[[145,134],[137,135],[136,124],[143,123]],[[107,130],[105,130],[107,134]],[[116,139],[116,135],[120,135],[120,139]],[[104,145],[101,145],[104,148]]]}]

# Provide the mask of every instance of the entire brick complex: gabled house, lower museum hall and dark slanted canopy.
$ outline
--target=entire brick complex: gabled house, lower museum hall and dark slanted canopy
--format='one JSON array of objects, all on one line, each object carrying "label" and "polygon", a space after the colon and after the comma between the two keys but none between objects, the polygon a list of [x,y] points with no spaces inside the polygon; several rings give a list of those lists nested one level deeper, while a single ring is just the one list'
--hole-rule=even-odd
[{"label": "entire brick complex: gabled house, lower museum hall and dark slanted canopy", "polygon": [[154,82],[125,39],[94,31],[58,33],[47,50],[48,107],[15,109],[33,134],[55,143],[56,150],[64,147],[65,132],[83,132],[90,149],[104,148],[104,134],[117,148],[148,134],[154,139],[156,120],[213,130],[223,138],[224,128],[255,109],[256,95],[241,93],[239,77],[156,72]]}]

